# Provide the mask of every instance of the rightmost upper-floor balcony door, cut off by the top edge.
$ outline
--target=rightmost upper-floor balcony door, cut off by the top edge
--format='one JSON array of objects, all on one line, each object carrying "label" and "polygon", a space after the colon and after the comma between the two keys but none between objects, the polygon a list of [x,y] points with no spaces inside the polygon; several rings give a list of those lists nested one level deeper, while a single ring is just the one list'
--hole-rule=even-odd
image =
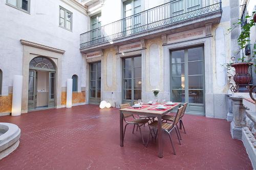
[{"label": "rightmost upper-floor balcony door, cut off by the top edge", "polygon": [[170,3],[171,17],[202,8],[202,0],[177,0]]}]

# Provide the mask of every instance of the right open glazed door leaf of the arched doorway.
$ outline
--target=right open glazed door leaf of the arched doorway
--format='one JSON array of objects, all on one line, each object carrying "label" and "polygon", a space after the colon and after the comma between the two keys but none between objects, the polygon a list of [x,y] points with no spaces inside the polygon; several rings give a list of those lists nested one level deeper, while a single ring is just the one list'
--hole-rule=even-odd
[{"label": "right open glazed door leaf of the arched doorway", "polygon": [[49,72],[49,99],[48,107],[55,106],[55,72]]}]

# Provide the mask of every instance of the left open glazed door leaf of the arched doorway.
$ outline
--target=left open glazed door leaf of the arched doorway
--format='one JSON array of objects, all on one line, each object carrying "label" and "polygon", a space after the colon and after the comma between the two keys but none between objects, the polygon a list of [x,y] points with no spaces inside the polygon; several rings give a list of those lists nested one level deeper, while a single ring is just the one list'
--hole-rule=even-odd
[{"label": "left open glazed door leaf of the arched doorway", "polygon": [[29,70],[28,110],[36,108],[36,70]]}]

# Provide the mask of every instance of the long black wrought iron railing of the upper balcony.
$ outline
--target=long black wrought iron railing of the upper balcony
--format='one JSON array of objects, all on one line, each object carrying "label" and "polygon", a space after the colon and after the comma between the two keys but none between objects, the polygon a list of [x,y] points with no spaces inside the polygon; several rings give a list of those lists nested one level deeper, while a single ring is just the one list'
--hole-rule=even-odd
[{"label": "long black wrought iron railing of the upper balcony", "polygon": [[221,12],[221,0],[175,0],[80,35],[80,48]]}]

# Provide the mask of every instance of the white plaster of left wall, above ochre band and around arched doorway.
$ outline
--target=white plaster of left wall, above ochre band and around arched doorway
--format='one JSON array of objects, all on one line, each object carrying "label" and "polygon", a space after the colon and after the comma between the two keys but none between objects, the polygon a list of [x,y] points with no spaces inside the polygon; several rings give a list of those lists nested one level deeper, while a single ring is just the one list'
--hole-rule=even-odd
[{"label": "white plaster of left wall, above ochre band and around arched doorway", "polygon": [[[73,13],[73,30],[59,27],[59,6]],[[60,0],[31,1],[30,14],[0,2],[0,69],[3,70],[3,95],[8,94],[14,75],[22,75],[23,46],[20,39],[65,50],[62,58],[62,86],[72,75],[78,75],[79,89],[85,86],[82,77],[82,55],[79,34],[87,31],[88,17]]]}]

